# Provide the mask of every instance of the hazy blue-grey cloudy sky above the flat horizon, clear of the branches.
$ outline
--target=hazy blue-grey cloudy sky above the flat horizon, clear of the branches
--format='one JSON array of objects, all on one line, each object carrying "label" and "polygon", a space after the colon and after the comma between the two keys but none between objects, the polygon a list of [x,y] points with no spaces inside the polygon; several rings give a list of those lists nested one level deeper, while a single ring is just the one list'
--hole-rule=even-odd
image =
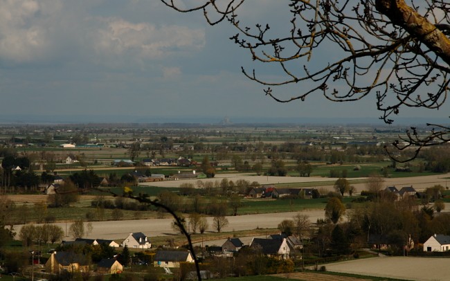
[{"label": "hazy blue-grey cloudy sky above the flat horizon, clear of the branches", "polygon": [[[240,15],[249,22],[270,17],[276,32],[289,24],[276,2],[243,6]],[[229,39],[235,33],[230,24],[211,27],[201,12],[182,14],[156,0],[0,0],[0,122],[215,123],[228,117],[381,124],[371,97],[338,103],[317,95],[280,104],[264,96],[264,87],[240,71],[255,64]],[[257,70],[282,79],[279,71]],[[276,91],[294,96],[305,86]],[[447,118],[448,109],[404,111],[399,119]]]}]

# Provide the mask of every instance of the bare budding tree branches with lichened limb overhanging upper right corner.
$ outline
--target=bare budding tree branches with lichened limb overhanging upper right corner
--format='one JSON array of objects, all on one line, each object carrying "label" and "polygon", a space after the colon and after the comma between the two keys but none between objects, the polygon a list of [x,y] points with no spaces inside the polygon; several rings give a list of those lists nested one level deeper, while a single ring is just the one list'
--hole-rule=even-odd
[{"label": "bare budding tree branches with lichened limb overhanging upper right corner", "polygon": [[[231,39],[248,50],[255,63],[279,66],[285,77],[279,81],[242,68],[247,78],[265,85],[266,95],[278,102],[304,101],[316,94],[335,102],[375,95],[380,118],[391,124],[393,116],[406,107],[439,109],[447,98],[449,1],[420,1],[420,6],[412,0],[283,1],[280,9],[285,6],[290,16],[285,18],[289,28],[282,32],[271,28],[274,23],[269,17],[254,26],[244,23],[250,20],[240,17],[240,11],[245,9],[248,15],[253,2],[161,1],[179,12],[203,11],[212,26],[224,21],[232,24],[237,33]],[[324,60],[325,51],[332,55]],[[272,89],[289,84],[298,84],[298,93],[283,97]],[[422,147],[450,141],[450,127],[427,126],[431,134],[421,136],[412,127],[393,147],[413,148],[415,158]]]}]

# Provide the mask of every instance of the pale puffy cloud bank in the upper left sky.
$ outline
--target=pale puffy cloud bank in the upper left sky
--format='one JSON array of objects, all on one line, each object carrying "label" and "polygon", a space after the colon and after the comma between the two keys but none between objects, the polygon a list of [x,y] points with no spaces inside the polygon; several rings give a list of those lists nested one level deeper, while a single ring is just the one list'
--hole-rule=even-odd
[{"label": "pale puffy cloud bank in the upper left sky", "polygon": [[[0,60],[16,64],[75,61],[114,67],[134,64],[142,68],[143,61],[190,55],[204,48],[203,28],[157,26],[147,20],[133,23],[120,14],[96,14],[108,4],[1,0]],[[152,19],[151,13],[148,19]]]}]

